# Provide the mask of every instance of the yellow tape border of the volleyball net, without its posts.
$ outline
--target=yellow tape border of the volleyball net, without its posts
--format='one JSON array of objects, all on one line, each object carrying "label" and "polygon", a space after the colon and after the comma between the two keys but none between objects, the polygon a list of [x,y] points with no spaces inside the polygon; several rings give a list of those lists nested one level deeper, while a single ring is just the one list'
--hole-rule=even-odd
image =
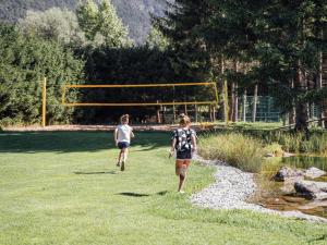
[{"label": "yellow tape border of the volleyball net, without its posts", "polygon": [[[172,101],[172,102],[143,102],[143,103],[98,103],[98,102],[66,102],[65,95],[70,88],[122,88],[122,87],[179,87],[179,86],[213,86],[215,100],[210,101]],[[65,107],[147,107],[147,106],[180,106],[180,105],[218,105],[218,88],[216,83],[175,83],[175,84],[114,84],[114,85],[64,85],[62,106]]]}]

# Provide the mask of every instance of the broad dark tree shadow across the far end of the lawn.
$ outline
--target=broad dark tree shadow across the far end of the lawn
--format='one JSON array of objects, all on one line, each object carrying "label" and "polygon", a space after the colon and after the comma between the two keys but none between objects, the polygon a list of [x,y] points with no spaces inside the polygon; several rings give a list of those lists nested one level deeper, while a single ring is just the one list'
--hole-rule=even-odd
[{"label": "broad dark tree shadow across the far end of the lawn", "polygon": [[[153,150],[169,144],[169,133],[136,132],[132,148]],[[0,152],[92,152],[112,148],[112,132],[0,132]]]}]

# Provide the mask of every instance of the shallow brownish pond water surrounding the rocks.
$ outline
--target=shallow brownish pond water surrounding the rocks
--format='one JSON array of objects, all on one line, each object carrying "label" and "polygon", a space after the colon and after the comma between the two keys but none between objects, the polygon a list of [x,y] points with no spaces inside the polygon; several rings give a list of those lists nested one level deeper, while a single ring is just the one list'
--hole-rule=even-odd
[{"label": "shallow brownish pond water surrounding the rocks", "polygon": [[[271,180],[282,166],[296,169],[316,167],[327,172],[327,157],[296,156],[267,159],[262,172],[256,175],[259,188],[253,201],[275,210],[298,210],[307,215],[327,218],[327,199],[305,199],[296,195],[293,188],[293,182],[275,182]],[[312,181],[327,182],[327,175],[323,175],[322,177]]]}]

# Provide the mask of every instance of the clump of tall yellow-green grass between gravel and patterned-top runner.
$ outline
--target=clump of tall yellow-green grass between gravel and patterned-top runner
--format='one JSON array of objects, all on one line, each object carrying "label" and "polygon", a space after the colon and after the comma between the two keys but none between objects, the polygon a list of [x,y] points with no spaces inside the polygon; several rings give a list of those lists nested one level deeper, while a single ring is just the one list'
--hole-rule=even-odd
[{"label": "clump of tall yellow-green grass between gravel and patterned-top runner", "polygon": [[258,172],[265,154],[261,140],[242,134],[204,135],[199,138],[198,152],[211,160],[226,161],[249,172]]}]

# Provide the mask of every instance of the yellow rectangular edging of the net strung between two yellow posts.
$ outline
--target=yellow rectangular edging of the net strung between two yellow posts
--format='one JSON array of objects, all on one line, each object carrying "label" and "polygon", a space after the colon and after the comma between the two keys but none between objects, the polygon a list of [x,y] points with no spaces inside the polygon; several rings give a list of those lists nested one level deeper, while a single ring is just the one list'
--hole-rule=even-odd
[{"label": "yellow rectangular edging of the net strung between two yellow posts", "polygon": [[[134,88],[170,88],[170,89],[185,89],[190,87],[195,87],[197,90],[201,89],[201,87],[209,88],[211,90],[211,98],[205,99],[205,100],[192,100],[186,101],[179,100],[174,98],[171,101],[164,101],[160,99],[160,96],[158,95],[157,99],[153,101],[132,101],[132,102],[125,102],[125,101],[119,101],[119,102],[93,102],[93,101],[82,101],[82,102],[71,102],[66,101],[66,94],[70,89],[114,89],[114,88],[123,88],[132,90]],[[186,90],[184,90],[184,94]],[[162,95],[162,93],[161,93]],[[62,91],[62,105],[65,107],[148,107],[148,106],[181,106],[181,105],[211,105],[217,106],[218,105],[218,89],[216,83],[168,83],[168,84],[102,84],[102,85],[64,85],[63,91]]]}]

